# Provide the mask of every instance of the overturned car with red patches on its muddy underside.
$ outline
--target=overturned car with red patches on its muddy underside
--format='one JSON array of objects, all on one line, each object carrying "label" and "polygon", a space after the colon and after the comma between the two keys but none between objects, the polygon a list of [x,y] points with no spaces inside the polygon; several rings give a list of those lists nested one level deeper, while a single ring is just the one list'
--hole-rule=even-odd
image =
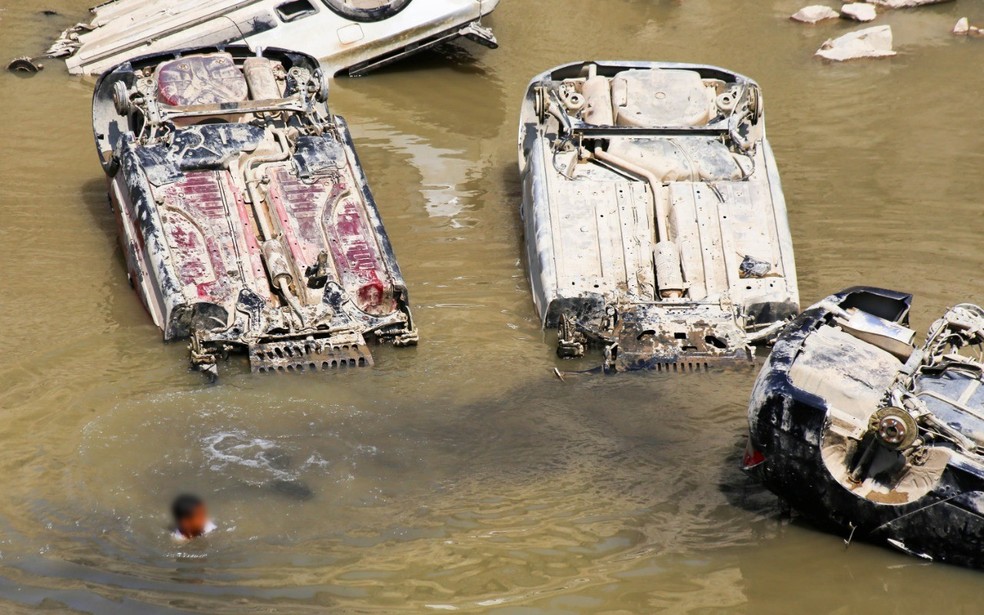
[{"label": "overturned car with red patches on its muddy underside", "polygon": [[131,284],[210,374],[373,363],[417,333],[406,284],[317,60],[198,49],[105,73],[96,147]]}]

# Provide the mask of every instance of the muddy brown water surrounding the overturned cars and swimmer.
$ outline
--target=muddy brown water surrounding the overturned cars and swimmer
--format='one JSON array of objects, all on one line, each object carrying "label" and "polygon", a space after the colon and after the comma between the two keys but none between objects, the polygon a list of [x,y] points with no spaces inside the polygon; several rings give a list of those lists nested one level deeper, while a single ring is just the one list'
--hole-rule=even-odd
[{"label": "muddy brown water surrounding the overturned cars and swimmer", "polygon": [[[89,3],[0,0],[0,57]],[[736,469],[754,372],[551,374],[515,135],[529,78],[575,59],[762,83],[804,305],[895,287],[924,330],[984,301],[984,41],[948,34],[984,8],[892,13],[898,57],[828,65],[812,52],[851,26],[787,22],[799,4],[503,0],[498,51],[337,81],[422,343],[216,386],[127,286],[91,86],[58,61],[0,74],[0,611],[980,612],[979,573],[780,521]],[[176,547],[184,489],[220,531]]]}]

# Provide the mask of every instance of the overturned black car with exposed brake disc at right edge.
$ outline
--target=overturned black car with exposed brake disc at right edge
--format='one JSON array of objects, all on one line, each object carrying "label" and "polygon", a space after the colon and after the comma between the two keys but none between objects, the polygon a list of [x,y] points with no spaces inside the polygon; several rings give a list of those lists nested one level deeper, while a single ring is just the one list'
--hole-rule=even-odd
[{"label": "overturned black car with exposed brake disc at right edge", "polygon": [[853,288],[781,334],[748,410],[745,467],[807,519],[984,567],[984,309],[914,345],[912,297]]}]

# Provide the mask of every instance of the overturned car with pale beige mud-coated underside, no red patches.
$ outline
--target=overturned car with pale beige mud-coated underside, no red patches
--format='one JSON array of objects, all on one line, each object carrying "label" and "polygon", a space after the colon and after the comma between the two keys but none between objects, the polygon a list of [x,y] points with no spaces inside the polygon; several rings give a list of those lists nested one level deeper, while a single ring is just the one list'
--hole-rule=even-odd
[{"label": "overturned car with pale beige mud-coated underside, no red patches", "polygon": [[580,62],[519,133],[533,298],[558,354],[609,370],[746,362],[799,311],[759,86],[711,66]]}]

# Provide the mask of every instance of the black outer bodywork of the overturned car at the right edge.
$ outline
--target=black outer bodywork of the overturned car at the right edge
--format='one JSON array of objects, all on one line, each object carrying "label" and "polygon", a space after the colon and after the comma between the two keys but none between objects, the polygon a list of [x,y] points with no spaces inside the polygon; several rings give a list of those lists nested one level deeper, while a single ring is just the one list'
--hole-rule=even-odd
[{"label": "black outer bodywork of the overturned car at the right edge", "polygon": [[[911,295],[858,287],[824,302],[859,307],[906,325]],[[951,462],[934,489],[905,505],[876,504],[838,483],[821,458],[824,399],[793,386],[789,370],[804,340],[830,317],[814,307],[782,333],[755,384],[745,469],[793,510],[845,539],[900,548],[935,561],[984,568],[984,469]],[[854,357],[831,356],[854,363]],[[857,365],[863,370],[864,365]]]}]

